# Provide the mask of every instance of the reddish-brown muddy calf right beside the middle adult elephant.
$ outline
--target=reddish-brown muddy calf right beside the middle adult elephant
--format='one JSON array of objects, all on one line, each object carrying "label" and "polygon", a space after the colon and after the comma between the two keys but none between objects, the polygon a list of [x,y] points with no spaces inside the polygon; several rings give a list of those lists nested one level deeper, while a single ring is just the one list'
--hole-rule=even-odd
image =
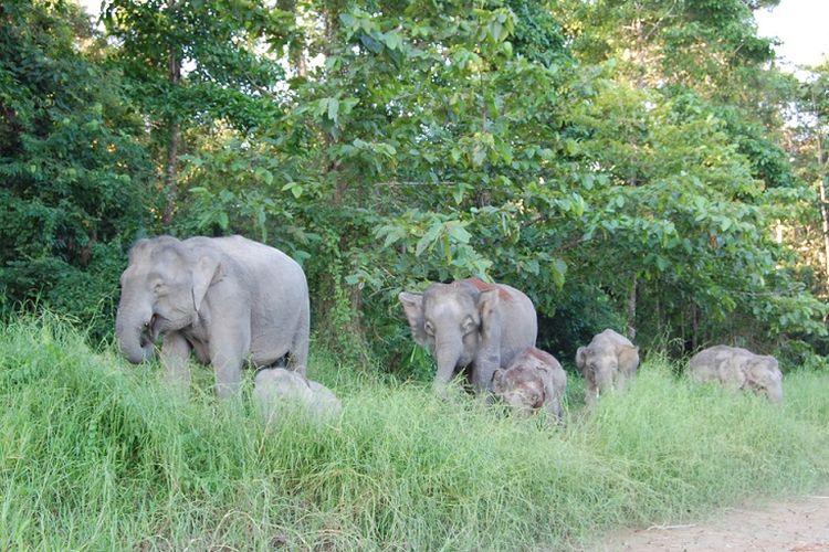
[{"label": "reddish-brown muddy calf right beside the middle adult elephant", "polygon": [[495,395],[520,416],[528,416],[544,407],[560,420],[566,385],[567,374],[562,364],[555,357],[535,347],[525,349],[510,368],[497,369],[492,376]]}]

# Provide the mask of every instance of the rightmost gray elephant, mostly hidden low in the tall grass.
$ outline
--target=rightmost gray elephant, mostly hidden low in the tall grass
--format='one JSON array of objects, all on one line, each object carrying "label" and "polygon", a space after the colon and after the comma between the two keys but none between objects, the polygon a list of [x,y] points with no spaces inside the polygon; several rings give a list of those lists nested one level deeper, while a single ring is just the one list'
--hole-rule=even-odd
[{"label": "rightmost gray elephant, mostly hidden low in the tall grass", "polygon": [[773,403],[783,402],[783,372],[774,357],[714,346],[691,357],[688,372],[699,382],[717,381],[732,389],[752,390]]}]

